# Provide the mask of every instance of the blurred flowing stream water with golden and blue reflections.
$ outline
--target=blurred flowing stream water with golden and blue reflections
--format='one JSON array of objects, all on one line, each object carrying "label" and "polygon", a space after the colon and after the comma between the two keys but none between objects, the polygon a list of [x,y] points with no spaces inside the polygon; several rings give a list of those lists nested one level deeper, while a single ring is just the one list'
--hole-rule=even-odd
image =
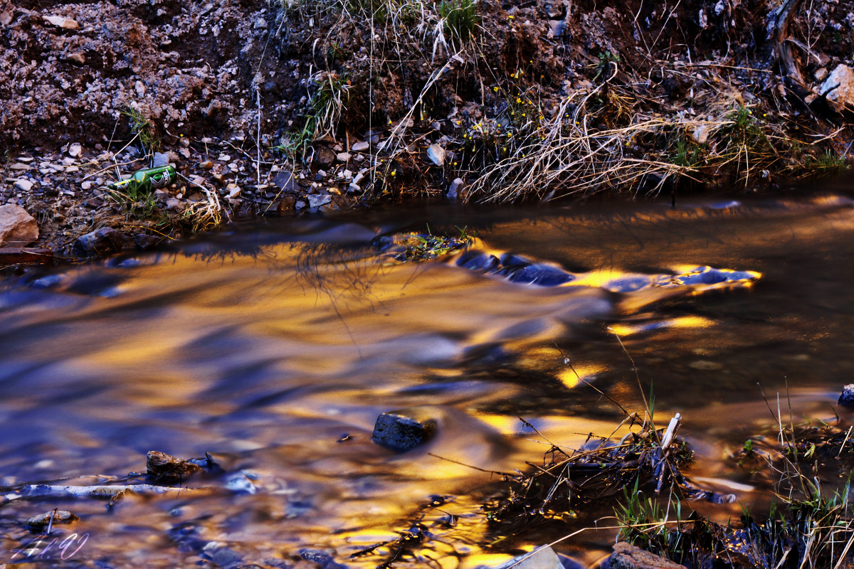
[{"label": "blurred flowing stream water with golden and blue reflections", "polygon": [[[546,440],[610,434],[617,404],[642,412],[639,379],[658,417],[681,413],[697,453],[688,474],[762,503],[767,479],[728,452],[769,433],[778,393],[796,421],[832,417],[852,379],[852,205],[421,207],[277,220],[9,276],[0,563],[314,566],[302,551],[372,567],[384,558],[349,555],[418,520],[434,539],[401,565],[495,563],[592,520],[483,549],[477,500],[500,488],[486,471],[538,462]],[[376,239],[428,227],[477,241],[401,263]],[[436,421],[435,438],[403,453],[371,441],[377,415],[412,407]],[[222,470],[184,482],[211,490],[178,496],[24,496],[22,483],[145,482],[122,477],[144,473],[149,450],[209,452]],[[44,551],[23,522],[52,508],[81,520]],[[447,514],[459,523],[443,532]],[[614,535],[559,549],[590,566]]]}]

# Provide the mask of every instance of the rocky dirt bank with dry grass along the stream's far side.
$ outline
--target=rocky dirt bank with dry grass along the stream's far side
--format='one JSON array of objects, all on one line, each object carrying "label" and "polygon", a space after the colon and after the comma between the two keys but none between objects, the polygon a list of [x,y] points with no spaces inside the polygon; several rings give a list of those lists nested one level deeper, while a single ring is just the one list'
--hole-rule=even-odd
[{"label": "rocky dirt bank with dry grass along the stream's far side", "polygon": [[[156,241],[449,190],[834,173],[854,140],[852,23],[841,0],[0,0],[0,203],[70,252],[105,227]],[[103,190],[155,151],[184,178],[144,200]]]}]

